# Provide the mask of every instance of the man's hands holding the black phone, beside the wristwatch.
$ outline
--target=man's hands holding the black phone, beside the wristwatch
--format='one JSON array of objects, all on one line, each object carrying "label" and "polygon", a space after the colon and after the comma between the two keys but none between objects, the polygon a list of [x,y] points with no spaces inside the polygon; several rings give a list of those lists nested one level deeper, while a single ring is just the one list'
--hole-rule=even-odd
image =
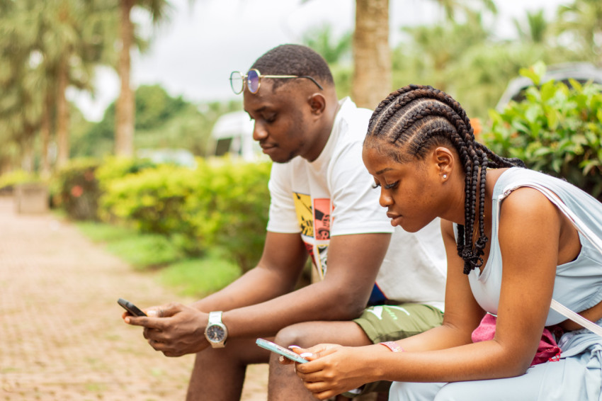
[{"label": "man's hands holding the black phone, beside the wristwatch", "polygon": [[127,324],[144,327],[144,338],[165,356],[196,354],[209,346],[205,327],[209,315],[180,303],[152,307],[149,317],[124,315]]}]

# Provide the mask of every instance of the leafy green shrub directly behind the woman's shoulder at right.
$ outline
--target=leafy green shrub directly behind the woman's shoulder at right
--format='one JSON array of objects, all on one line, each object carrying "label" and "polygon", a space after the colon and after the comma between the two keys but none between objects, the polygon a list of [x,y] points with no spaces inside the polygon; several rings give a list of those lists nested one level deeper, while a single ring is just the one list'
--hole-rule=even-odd
[{"label": "leafy green shrub directly behind the woman's shoulder at right", "polygon": [[522,159],[530,169],[560,176],[602,200],[602,86],[547,81],[544,64],[522,69],[533,81],[520,103],[490,111],[483,138],[496,153]]}]

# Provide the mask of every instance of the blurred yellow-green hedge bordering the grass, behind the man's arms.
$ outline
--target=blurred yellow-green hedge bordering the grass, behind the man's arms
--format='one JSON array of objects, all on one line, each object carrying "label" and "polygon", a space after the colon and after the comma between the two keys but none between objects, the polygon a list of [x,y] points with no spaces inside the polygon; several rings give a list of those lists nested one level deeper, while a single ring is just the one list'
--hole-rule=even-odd
[{"label": "blurred yellow-green hedge bordering the grass, behind the man's arms", "polygon": [[270,164],[198,160],[196,169],[161,165],[106,179],[101,218],[168,237],[188,255],[227,251],[244,271],[261,256]]}]

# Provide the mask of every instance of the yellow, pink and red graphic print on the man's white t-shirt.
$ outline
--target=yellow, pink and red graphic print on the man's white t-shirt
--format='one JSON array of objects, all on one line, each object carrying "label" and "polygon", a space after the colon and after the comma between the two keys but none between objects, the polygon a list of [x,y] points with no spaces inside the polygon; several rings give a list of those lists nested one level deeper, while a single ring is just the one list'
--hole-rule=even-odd
[{"label": "yellow, pink and red graphic print on the man's white t-shirt", "polygon": [[320,278],[326,274],[326,255],[330,242],[330,199],[312,197],[305,193],[293,192],[297,221],[301,236]]}]

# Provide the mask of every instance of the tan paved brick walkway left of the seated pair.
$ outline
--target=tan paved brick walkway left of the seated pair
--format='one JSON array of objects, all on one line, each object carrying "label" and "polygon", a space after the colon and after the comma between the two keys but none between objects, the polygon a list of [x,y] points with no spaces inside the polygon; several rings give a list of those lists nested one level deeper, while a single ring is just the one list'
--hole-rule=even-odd
[{"label": "tan paved brick walkway left of the seated pair", "polygon": [[[0,401],[183,400],[193,356],[166,358],[124,324],[118,298],[188,303],[52,215],[0,197]],[[242,400],[266,399],[251,366]]]}]

